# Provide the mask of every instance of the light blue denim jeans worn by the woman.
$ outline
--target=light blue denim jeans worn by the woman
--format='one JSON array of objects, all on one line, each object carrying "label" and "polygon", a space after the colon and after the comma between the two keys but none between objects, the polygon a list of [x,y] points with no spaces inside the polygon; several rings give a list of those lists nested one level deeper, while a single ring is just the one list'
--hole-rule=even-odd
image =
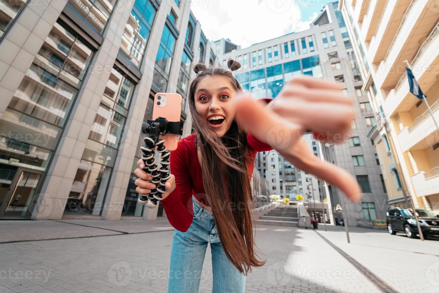
[{"label": "light blue denim jeans worn by the woman", "polygon": [[219,242],[212,212],[199,206],[192,197],[194,217],[186,232],[174,231],[169,267],[168,293],[197,293],[207,243],[212,250],[212,293],[241,293],[245,290],[245,274],[230,263]]}]

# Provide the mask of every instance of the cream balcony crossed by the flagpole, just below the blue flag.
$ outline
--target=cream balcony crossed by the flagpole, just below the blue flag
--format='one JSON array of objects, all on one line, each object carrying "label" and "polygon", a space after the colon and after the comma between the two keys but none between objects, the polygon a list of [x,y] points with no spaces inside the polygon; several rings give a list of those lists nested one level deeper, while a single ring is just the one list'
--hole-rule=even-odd
[{"label": "cream balcony crossed by the flagpole, just below the blue flag", "polygon": [[[439,100],[430,107],[435,120],[439,121]],[[439,133],[428,110],[414,119],[410,126],[404,127],[397,137],[403,152],[425,150],[439,143]]]}]

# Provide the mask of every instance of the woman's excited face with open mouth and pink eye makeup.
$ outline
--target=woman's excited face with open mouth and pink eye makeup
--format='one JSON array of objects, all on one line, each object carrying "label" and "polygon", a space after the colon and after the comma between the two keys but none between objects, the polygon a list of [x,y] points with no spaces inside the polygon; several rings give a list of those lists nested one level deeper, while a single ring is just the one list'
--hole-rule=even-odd
[{"label": "woman's excited face with open mouth and pink eye makeup", "polygon": [[230,79],[222,75],[205,76],[195,88],[195,110],[218,137],[226,134],[235,117],[235,107],[230,102],[235,94]]}]

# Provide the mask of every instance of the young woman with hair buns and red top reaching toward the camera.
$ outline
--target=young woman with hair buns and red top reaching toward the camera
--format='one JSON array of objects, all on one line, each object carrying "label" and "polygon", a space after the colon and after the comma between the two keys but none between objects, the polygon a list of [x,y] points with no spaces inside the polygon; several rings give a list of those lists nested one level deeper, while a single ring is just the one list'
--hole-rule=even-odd
[{"label": "young woman with hair buns and red top reaching toward the camera", "polygon": [[[229,60],[228,70],[194,66],[189,108],[196,130],[180,139],[170,155],[172,176],[162,205],[173,235],[168,292],[198,292],[207,243],[212,250],[213,293],[244,292],[245,275],[266,261],[256,256],[252,230],[250,179],[258,151],[277,150],[305,172],[358,200],[360,187],[345,170],[320,160],[301,139],[311,130],[317,139],[346,141],[354,118],[349,97],[337,84],[291,79],[275,99],[254,100],[242,94]],[[335,138],[338,134],[338,141]],[[332,137],[334,136],[334,138]],[[136,191],[149,193],[144,162],[137,162]]]}]

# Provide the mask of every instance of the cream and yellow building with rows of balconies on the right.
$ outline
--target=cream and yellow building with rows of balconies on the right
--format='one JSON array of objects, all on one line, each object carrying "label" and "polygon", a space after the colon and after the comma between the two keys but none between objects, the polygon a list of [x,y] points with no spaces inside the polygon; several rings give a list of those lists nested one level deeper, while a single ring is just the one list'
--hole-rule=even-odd
[{"label": "cream and yellow building with rows of balconies on the right", "polygon": [[368,138],[381,161],[388,204],[411,207],[411,197],[415,207],[439,214],[439,131],[425,102],[410,93],[405,68],[412,68],[439,121],[437,3],[351,2],[340,1],[339,7],[363,56],[363,90],[377,120]]}]

